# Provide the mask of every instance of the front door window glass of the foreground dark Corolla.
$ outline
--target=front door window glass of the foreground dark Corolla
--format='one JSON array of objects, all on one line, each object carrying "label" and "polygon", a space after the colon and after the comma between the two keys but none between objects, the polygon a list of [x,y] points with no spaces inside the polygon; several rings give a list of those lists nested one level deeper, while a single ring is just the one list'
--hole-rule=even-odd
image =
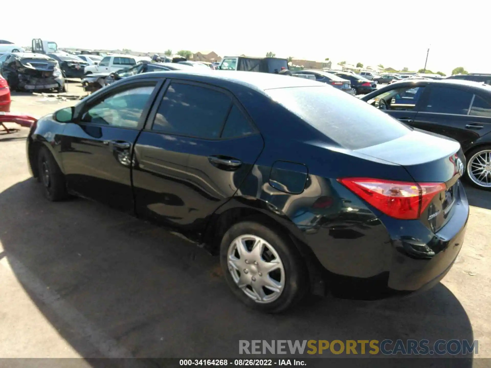
[{"label": "front door window glass of the foreground dark Corolla", "polygon": [[155,83],[133,86],[109,95],[82,113],[81,122],[118,128],[137,129]]}]

